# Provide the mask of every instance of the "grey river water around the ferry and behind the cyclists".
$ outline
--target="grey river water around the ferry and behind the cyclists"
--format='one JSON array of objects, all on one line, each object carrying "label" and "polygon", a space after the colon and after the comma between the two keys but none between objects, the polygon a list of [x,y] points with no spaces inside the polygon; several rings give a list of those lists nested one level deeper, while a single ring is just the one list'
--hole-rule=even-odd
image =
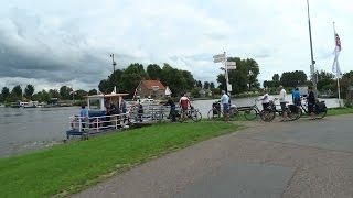
[{"label": "grey river water around the ferry and behind the cyclists", "polygon": [[[324,100],[329,108],[339,107],[336,99]],[[207,117],[214,101],[216,100],[196,100],[192,101],[192,105],[203,117]],[[238,107],[252,106],[255,103],[255,98],[234,99],[232,103]],[[0,108],[0,157],[62,142],[65,139],[65,131],[69,128],[68,117],[78,114],[78,107]]]}]

